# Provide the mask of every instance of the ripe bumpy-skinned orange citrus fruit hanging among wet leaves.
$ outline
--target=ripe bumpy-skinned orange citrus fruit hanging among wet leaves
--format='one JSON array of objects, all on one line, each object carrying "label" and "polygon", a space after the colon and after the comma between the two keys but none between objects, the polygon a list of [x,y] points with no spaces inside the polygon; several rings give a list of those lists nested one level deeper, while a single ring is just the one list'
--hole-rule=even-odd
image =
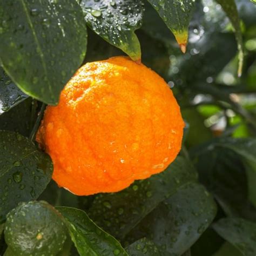
[{"label": "ripe bumpy-skinned orange citrus fruit hanging among wet leaves", "polygon": [[176,158],[184,122],[169,86],[126,57],[87,63],[48,106],[37,142],[53,179],[77,195],[116,192]]}]

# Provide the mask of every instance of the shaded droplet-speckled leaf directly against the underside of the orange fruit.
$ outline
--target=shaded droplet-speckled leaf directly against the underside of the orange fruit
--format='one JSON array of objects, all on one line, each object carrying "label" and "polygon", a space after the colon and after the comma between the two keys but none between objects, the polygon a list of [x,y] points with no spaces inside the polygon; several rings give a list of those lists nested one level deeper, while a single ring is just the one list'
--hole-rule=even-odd
[{"label": "shaded droplet-speckled leaf directly against the underside of the orange fruit", "polygon": [[161,201],[196,179],[191,163],[177,157],[164,172],[135,181],[118,193],[97,195],[88,213],[105,231],[123,238]]}]

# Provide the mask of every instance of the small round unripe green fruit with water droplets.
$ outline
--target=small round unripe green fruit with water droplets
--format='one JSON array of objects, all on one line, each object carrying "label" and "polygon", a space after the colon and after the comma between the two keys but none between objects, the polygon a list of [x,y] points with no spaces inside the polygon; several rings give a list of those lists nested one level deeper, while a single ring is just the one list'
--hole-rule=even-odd
[{"label": "small round unripe green fruit with water droplets", "polygon": [[54,256],[67,238],[62,215],[45,201],[21,203],[7,214],[5,242],[15,255]]}]

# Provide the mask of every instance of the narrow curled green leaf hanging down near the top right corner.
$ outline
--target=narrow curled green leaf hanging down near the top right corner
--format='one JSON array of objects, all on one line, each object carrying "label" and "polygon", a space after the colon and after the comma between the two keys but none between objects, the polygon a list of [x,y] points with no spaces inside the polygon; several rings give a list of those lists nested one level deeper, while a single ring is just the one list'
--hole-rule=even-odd
[{"label": "narrow curled green leaf hanging down near the top right corner", "polygon": [[234,27],[235,37],[237,38],[238,44],[238,58],[239,58],[239,65],[238,65],[238,76],[242,75],[242,64],[244,62],[244,49],[242,46],[242,32],[240,29],[240,18],[238,15],[237,5],[235,4],[234,0],[216,0],[223,10],[226,12],[228,18]]}]

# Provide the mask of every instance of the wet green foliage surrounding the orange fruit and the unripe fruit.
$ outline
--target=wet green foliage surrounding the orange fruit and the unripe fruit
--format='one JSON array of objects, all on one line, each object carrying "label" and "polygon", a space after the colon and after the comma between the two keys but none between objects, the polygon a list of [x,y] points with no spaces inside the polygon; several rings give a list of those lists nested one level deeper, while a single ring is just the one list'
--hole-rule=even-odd
[{"label": "wet green foliage surrounding the orange fruit and the unripe fruit", "polygon": [[[41,199],[73,241],[58,255],[255,255],[255,31],[249,0],[0,0],[0,231],[19,202]],[[139,61],[140,45],[174,86],[183,149],[121,192],[76,197],[33,142],[44,103],[82,63],[119,49]]]}]

